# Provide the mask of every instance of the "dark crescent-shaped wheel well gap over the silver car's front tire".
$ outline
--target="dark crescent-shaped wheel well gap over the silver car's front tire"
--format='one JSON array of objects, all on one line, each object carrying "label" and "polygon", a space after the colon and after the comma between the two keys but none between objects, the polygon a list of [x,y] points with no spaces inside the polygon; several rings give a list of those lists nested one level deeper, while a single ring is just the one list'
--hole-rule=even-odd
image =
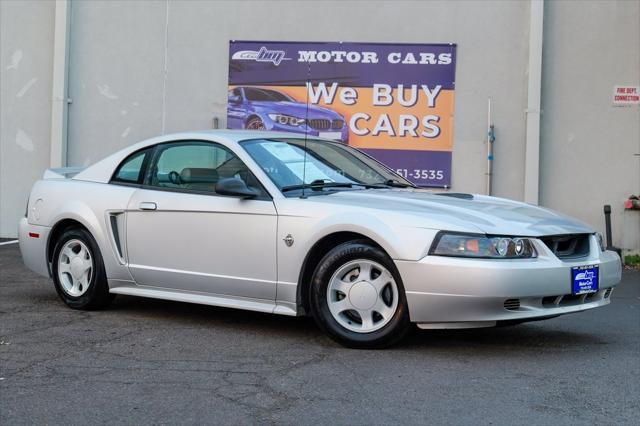
[{"label": "dark crescent-shaped wheel well gap over the silver car's front tire", "polygon": [[389,253],[378,244],[373,238],[364,234],[354,231],[336,231],[327,234],[317,240],[311,249],[307,252],[307,255],[302,262],[300,268],[300,274],[298,277],[298,286],[296,292],[296,304],[298,310],[301,313],[308,313],[309,311],[309,288],[311,287],[311,279],[315,272],[320,260],[334,247],[346,243],[348,241],[363,240],[378,247],[387,256],[391,258]]}]

